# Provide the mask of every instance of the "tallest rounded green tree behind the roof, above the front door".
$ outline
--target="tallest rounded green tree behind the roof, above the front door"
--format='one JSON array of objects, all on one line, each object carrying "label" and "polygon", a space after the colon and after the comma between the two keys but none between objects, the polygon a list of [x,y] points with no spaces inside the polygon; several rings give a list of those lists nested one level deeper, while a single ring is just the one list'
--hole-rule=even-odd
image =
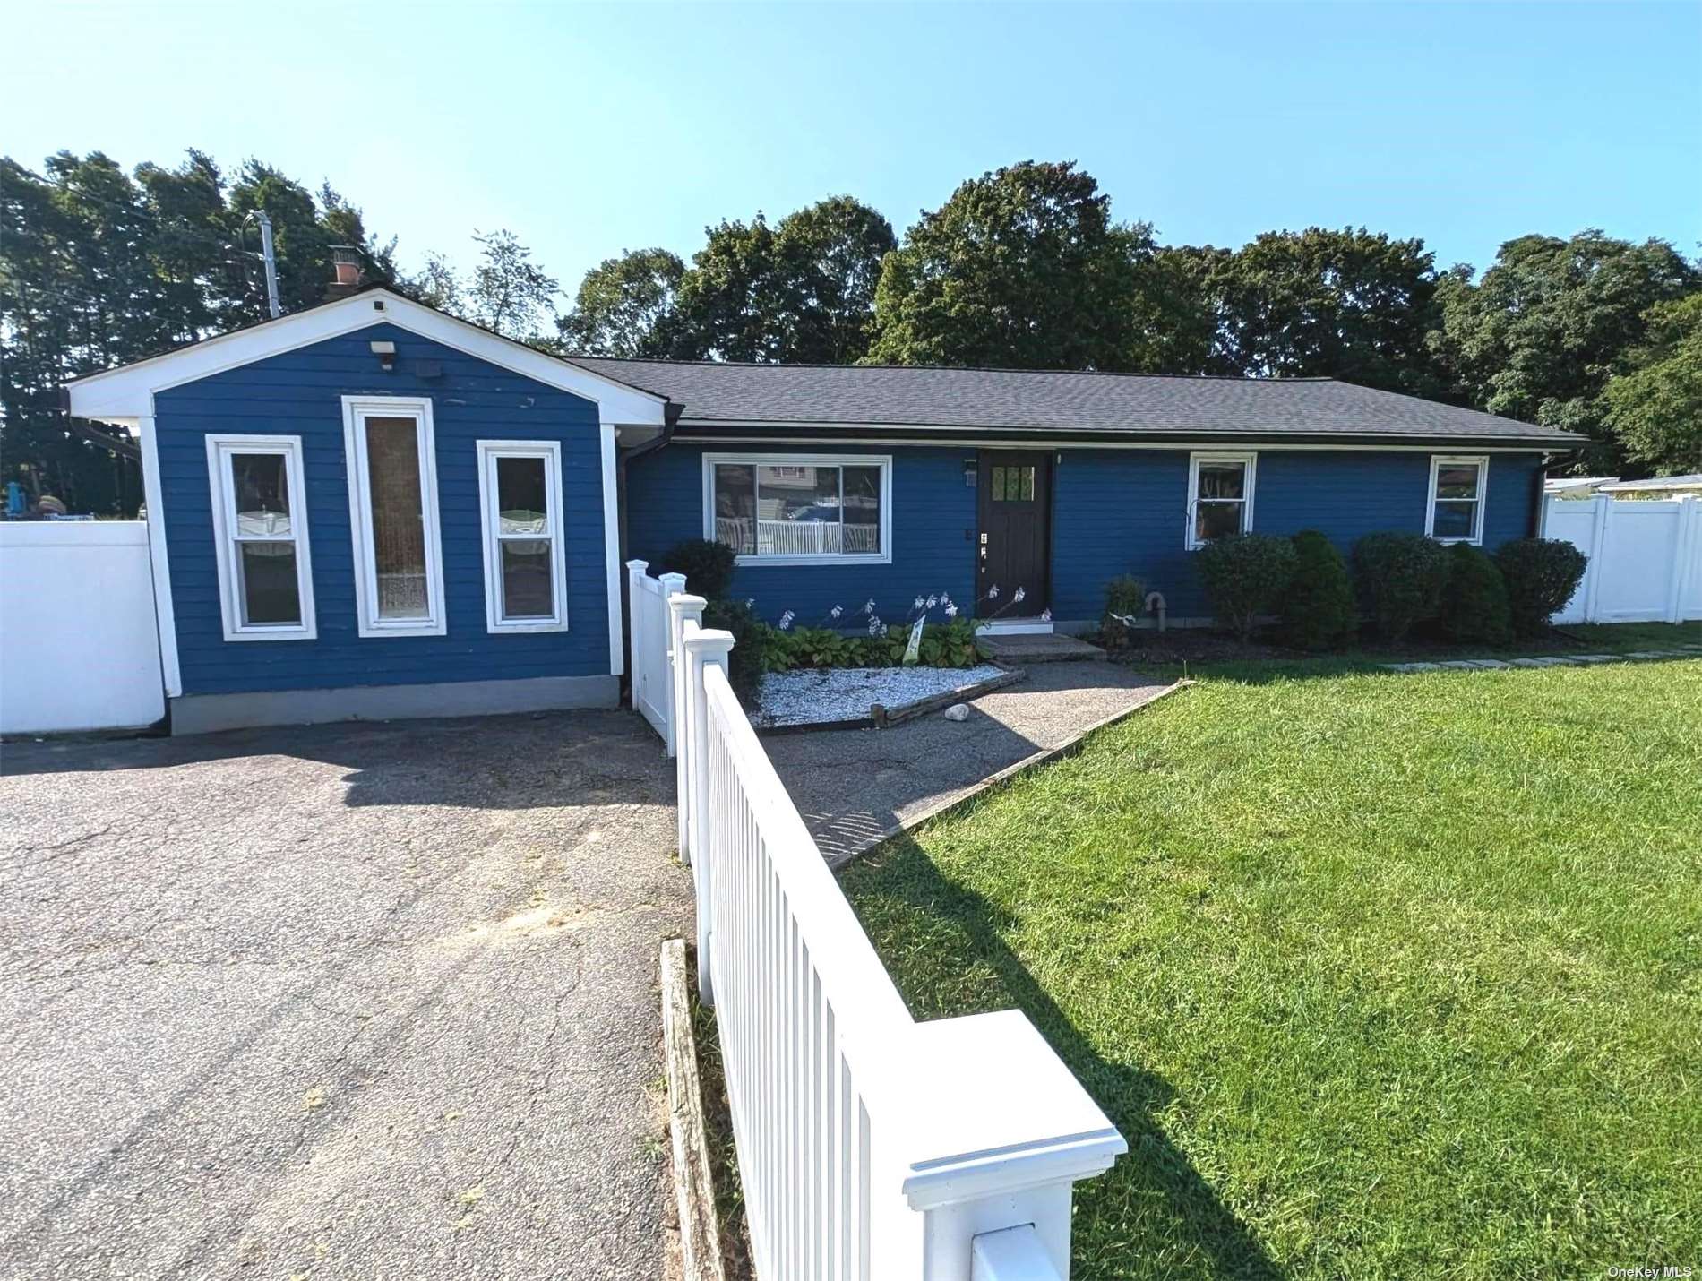
[{"label": "tallest rounded green tree behind the roof, above the front door", "polygon": [[970,179],[887,255],[866,359],[1123,367],[1130,240],[1142,233],[1117,235],[1110,206],[1074,162]]}]

